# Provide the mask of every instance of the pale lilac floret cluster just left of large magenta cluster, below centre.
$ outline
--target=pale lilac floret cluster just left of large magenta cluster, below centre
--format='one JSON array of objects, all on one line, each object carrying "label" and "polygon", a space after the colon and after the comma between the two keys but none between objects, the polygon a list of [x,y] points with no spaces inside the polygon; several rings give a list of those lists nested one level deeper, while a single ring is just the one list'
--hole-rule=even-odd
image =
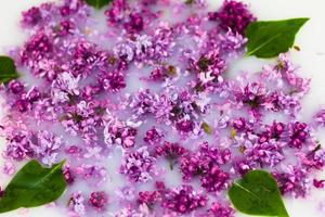
[{"label": "pale lilac floret cluster just left of large magenta cluster, below centre", "polygon": [[155,175],[155,161],[146,146],[126,153],[120,166],[120,173],[132,182],[146,182]]}]

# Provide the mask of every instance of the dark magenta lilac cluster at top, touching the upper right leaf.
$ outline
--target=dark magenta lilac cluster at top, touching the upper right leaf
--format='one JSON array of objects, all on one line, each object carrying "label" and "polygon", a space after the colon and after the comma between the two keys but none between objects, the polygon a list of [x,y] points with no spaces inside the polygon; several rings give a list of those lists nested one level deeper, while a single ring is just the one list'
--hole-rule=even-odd
[{"label": "dark magenta lilac cluster at top, touching the upper right leaf", "polygon": [[247,5],[234,0],[225,0],[217,17],[220,27],[224,30],[229,28],[234,33],[244,35],[246,27],[256,21],[256,17],[248,11]]}]

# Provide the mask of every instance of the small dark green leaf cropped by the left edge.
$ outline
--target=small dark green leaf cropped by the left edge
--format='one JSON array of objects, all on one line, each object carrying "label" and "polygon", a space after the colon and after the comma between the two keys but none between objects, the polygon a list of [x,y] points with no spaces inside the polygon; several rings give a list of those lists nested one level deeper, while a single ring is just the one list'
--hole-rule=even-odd
[{"label": "small dark green leaf cropped by the left edge", "polygon": [[0,56],[0,82],[5,84],[18,77],[20,75],[16,71],[14,61],[9,56],[1,55]]}]

